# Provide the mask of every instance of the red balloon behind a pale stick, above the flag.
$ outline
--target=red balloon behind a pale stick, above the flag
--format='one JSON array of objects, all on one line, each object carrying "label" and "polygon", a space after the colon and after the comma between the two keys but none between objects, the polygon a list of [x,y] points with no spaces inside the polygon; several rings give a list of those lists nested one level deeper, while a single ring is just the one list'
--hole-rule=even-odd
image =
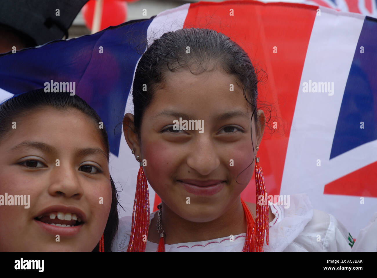
[{"label": "red balloon behind a pale stick, above the flag", "polygon": [[[95,0],[87,2],[83,8],[83,17],[86,27],[92,29]],[[100,30],[109,26],[116,26],[124,23],[127,18],[127,3],[123,0],[104,0]]]}]

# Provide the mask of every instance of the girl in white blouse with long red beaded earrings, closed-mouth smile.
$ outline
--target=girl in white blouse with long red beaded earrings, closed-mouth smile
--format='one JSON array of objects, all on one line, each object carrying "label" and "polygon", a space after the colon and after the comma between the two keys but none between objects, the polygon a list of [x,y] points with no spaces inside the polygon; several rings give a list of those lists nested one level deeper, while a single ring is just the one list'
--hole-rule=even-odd
[{"label": "girl in white blouse with long red beaded earrings, closed-mouth smile", "polygon": [[[132,96],[124,136],[142,163],[133,217],[121,219],[113,250],[351,251],[344,226],[307,194],[289,206],[240,197],[254,167],[264,196],[255,163],[265,116],[250,58],[230,38],[195,28],[162,35],[138,63]],[[181,120],[202,121],[203,132],[177,130]],[[144,173],[162,200],[147,219]]]}]

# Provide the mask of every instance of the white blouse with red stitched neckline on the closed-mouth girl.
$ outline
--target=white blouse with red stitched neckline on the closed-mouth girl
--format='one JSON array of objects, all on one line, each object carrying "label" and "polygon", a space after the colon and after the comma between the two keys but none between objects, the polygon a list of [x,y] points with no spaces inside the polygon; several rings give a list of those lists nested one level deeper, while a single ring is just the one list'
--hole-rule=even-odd
[{"label": "white blouse with red stitched neckline on the closed-mouth girl", "polygon": [[[269,203],[275,218],[269,223],[269,245],[264,252],[351,252],[347,229],[326,212],[313,209],[306,193],[290,196],[290,207]],[[150,214],[150,220],[156,213]],[[120,219],[112,244],[113,252],[126,252],[132,216]],[[166,252],[241,252],[246,233],[198,242],[165,244]],[[157,243],[147,241],[146,252],[156,252]]]}]

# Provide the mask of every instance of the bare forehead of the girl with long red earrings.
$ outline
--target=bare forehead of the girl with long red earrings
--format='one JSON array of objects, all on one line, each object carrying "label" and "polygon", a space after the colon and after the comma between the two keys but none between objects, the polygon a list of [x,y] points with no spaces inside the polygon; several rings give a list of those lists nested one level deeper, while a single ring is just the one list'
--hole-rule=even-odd
[{"label": "bare forehead of the girl with long red earrings", "polygon": [[197,75],[189,70],[169,73],[156,87],[147,110],[153,110],[153,114],[167,108],[206,113],[236,108],[248,111],[249,104],[238,83],[234,75],[218,70]]}]

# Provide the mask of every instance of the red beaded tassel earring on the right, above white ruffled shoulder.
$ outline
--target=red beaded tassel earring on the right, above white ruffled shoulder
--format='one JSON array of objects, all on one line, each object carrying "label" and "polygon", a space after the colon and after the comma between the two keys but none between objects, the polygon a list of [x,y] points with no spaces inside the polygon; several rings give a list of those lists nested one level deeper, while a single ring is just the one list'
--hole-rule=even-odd
[{"label": "red beaded tassel earring on the right, above white ruffled shoulder", "polygon": [[[258,151],[259,147],[256,146]],[[259,157],[255,156],[255,187],[256,187],[256,217],[255,224],[250,211],[247,208],[245,202],[241,199],[242,206],[244,206],[246,218],[247,218],[247,237],[245,239],[245,245],[242,252],[263,252],[264,235],[266,234],[266,244],[268,245],[269,231],[268,231],[268,220],[270,214],[270,207],[267,203],[267,193],[264,184],[263,171],[259,165]],[[259,205],[259,196],[263,196],[262,200],[264,203]],[[251,231],[251,233],[249,233]]]}]

